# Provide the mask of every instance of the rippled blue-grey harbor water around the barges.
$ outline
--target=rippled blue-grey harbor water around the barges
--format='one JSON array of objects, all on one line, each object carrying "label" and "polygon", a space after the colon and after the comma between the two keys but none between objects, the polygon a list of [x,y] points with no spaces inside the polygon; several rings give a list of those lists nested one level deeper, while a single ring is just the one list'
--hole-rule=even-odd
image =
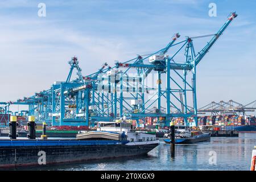
[{"label": "rippled blue-grey harbor water around the barges", "polygon": [[240,137],[212,137],[210,142],[179,144],[171,158],[170,144],[160,145],[147,156],[95,160],[83,163],[22,167],[14,170],[250,170],[251,151],[256,146],[256,134]]}]

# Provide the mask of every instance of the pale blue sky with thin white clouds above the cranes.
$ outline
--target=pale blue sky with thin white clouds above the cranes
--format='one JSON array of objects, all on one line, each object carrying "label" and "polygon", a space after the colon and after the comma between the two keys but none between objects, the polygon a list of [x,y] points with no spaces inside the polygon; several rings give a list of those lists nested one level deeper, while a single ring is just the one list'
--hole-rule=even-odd
[{"label": "pale blue sky with thin white clouds above the cranes", "polygon": [[[38,16],[39,3],[46,16]],[[217,16],[209,16],[215,3]],[[172,35],[216,33],[238,16],[197,66],[197,102],[256,100],[256,1],[1,0],[0,101],[17,100],[67,78],[77,56],[83,75],[166,46]],[[197,51],[207,43],[195,42]]]}]

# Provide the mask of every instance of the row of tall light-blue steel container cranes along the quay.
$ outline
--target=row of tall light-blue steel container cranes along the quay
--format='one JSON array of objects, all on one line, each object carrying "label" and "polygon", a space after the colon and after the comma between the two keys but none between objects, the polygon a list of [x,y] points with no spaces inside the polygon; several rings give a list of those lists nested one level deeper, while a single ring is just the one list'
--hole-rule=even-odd
[{"label": "row of tall light-blue steel container cranes along the quay", "polygon": [[[188,117],[197,121],[196,67],[236,16],[231,13],[216,34],[207,35],[212,39],[197,53],[193,40],[207,36],[187,37],[176,43],[180,35],[175,34],[159,51],[116,61],[114,67],[105,63],[87,76],[82,76],[79,61],[73,57],[66,81],[55,82],[50,89],[23,100],[0,104],[5,105],[6,113],[10,105],[28,105],[28,115],[52,126],[88,126],[117,118],[139,122],[146,117],[161,118],[160,124],[166,126],[172,118],[183,117],[187,125],[196,125],[187,122]],[[74,70],[77,78],[71,80]],[[148,86],[150,79],[156,84]]]}]

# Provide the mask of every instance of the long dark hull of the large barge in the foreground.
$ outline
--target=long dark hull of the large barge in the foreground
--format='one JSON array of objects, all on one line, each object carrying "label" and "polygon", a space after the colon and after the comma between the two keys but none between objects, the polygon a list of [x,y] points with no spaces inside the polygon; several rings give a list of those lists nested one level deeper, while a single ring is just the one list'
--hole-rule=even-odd
[{"label": "long dark hull of the large barge in the foreground", "polygon": [[46,152],[46,164],[82,162],[86,160],[121,158],[146,155],[158,143],[126,145],[77,145],[77,146],[5,146],[0,148],[0,167],[40,166],[39,152]]}]

